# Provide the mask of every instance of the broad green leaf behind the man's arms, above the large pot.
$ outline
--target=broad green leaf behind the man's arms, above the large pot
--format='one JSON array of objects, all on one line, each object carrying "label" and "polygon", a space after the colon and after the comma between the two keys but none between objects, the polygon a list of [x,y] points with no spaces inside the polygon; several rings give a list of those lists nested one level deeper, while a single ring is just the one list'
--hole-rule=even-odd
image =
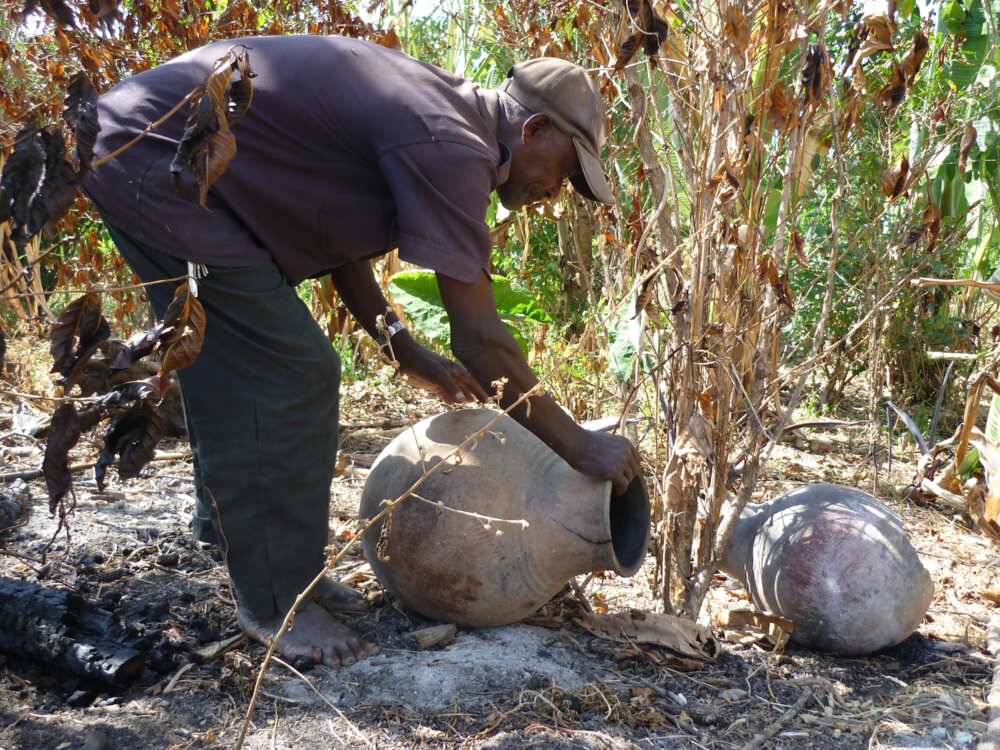
[{"label": "broad green leaf behind the man's arms, above the large pot", "polygon": [[[527,351],[527,332],[538,323],[551,323],[552,318],[527,290],[507,277],[493,276],[492,281],[500,319],[521,349]],[[451,332],[448,312],[433,271],[400,271],[389,281],[389,292],[417,331],[439,344],[448,343]]]}]

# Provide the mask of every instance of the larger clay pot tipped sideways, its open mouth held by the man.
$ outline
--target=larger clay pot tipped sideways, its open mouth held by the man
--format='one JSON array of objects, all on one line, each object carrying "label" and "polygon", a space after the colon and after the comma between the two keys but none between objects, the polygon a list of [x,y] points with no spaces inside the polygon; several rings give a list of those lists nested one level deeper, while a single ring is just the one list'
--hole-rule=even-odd
[{"label": "larger clay pot tipped sideways, its open mouth held by the man", "polygon": [[[451,411],[404,430],[372,466],[361,515],[375,515],[495,416],[488,409]],[[477,627],[515,622],[573,576],[592,570],[630,576],[646,554],[649,500],[641,480],[612,497],[610,482],[574,470],[507,416],[416,494],[447,508],[528,522],[526,528],[487,524],[410,497],[392,514],[382,545],[387,559],[378,554],[383,522],[368,531],[365,555],[379,581],[434,620]]]}]

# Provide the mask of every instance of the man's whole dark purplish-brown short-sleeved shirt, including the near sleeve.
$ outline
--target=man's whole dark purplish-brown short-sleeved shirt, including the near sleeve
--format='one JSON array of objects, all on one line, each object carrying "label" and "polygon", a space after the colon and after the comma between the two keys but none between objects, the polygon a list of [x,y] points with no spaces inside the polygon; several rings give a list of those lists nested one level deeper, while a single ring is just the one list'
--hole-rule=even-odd
[{"label": "man's whole dark purplish-brown short-sleeved shirt, including the near sleeve", "polygon": [[399,247],[460,281],[489,266],[490,193],[509,170],[497,94],[394,50],[335,36],[214,42],[100,97],[103,156],[158,119],[235,45],[257,74],[237,153],[197,203],[169,166],[186,108],[84,182],[113,224],[170,255],[213,265],[273,258],[288,278]]}]

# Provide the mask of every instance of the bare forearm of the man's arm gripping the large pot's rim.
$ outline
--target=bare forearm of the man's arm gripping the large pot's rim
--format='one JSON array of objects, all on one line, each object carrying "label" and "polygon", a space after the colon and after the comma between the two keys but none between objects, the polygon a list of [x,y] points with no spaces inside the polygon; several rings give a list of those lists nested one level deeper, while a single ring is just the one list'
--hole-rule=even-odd
[{"label": "bare forearm of the man's arm gripping the large pot's rim", "polygon": [[[502,326],[472,335],[453,329],[452,351],[487,391],[492,391],[494,381],[507,379],[500,401],[504,408],[538,383],[514,337]],[[541,391],[510,414],[563,459],[575,461],[582,428],[551,396]]]}]

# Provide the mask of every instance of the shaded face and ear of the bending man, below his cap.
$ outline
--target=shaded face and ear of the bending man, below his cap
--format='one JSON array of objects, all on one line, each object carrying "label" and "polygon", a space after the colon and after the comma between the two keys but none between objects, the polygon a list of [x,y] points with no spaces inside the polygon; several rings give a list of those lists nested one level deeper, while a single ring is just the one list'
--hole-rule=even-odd
[{"label": "shaded face and ear of the bending man, below his cap", "polygon": [[550,200],[579,169],[572,139],[545,115],[534,115],[521,128],[521,143],[511,149],[510,174],[497,195],[509,211]]}]

